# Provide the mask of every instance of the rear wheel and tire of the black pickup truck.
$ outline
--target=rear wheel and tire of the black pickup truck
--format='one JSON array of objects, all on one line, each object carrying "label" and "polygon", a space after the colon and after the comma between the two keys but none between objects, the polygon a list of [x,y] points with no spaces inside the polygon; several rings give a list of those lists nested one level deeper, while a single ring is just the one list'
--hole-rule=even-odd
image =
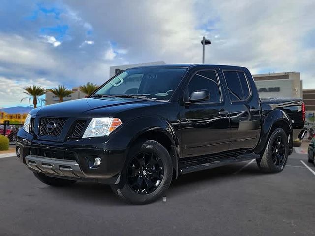
[{"label": "rear wheel and tire of the black pickup truck", "polygon": [[257,164],[263,172],[281,172],[286,165],[288,154],[289,143],[286,133],[282,128],[277,128],[270,135],[265,152],[257,159]]}]

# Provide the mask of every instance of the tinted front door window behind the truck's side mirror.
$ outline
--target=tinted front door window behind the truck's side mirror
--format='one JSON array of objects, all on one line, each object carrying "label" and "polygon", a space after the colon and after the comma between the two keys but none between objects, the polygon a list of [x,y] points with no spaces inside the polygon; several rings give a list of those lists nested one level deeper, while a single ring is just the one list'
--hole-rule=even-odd
[{"label": "tinted front door window behind the truck's side mirror", "polygon": [[207,89],[209,91],[210,98],[209,100],[202,101],[200,103],[219,103],[221,101],[221,94],[216,71],[199,71],[192,77],[188,85],[189,96],[192,92],[202,89]]}]

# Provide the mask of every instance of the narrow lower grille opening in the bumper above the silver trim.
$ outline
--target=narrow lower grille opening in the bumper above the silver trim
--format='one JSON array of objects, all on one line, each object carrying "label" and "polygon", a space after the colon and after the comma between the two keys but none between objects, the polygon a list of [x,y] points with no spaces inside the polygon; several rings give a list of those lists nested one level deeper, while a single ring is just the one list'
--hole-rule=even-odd
[{"label": "narrow lower grille opening in the bumper above the silver trim", "polygon": [[30,148],[30,155],[42,156],[47,158],[56,158],[62,160],[72,160],[75,161],[75,154],[71,151],[63,150],[50,150],[42,148]]}]

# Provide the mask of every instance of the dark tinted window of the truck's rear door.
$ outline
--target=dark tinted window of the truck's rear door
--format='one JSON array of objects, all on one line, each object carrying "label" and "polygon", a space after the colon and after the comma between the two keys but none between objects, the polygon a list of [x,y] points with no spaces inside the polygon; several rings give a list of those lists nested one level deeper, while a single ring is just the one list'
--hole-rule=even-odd
[{"label": "dark tinted window of the truck's rear door", "polygon": [[231,101],[243,101],[250,96],[250,89],[243,72],[224,71]]}]

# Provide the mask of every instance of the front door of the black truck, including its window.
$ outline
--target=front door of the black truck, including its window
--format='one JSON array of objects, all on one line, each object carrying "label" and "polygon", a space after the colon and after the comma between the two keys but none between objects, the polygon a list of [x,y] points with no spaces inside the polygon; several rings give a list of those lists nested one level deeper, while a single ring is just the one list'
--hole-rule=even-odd
[{"label": "front door of the black truck, including its window", "polygon": [[215,68],[197,71],[185,89],[189,95],[196,90],[208,89],[210,98],[186,103],[181,108],[183,158],[212,155],[229,149],[229,117],[228,111],[224,110],[225,98],[218,74]]}]

